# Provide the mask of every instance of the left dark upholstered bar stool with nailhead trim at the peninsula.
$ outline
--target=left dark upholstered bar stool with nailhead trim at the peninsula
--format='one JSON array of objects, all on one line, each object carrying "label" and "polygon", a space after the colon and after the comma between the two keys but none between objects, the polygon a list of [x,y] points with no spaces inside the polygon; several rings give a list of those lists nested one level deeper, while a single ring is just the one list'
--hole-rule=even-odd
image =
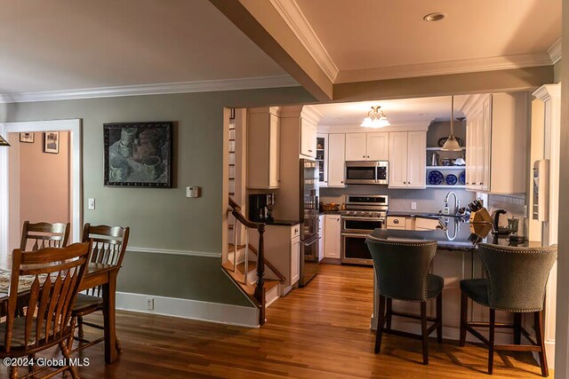
[{"label": "left dark upholstered bar stool with nailhead trim at the peninsula", "polygon": [[[437,339],[443,341],[443,296],[445,280],[429,273],[437,253],[436,241],[381,240],[367,236],[365,241],[373,257],[377,275],[379,312],[375,336],[375,353],[381,350],[383,333],[412,337],[422,342],[423,364],[429,364],[427,338],[437,330]],[[427,302],[437,298],[437,317],[427,316]],[[421,303],[421,314],[393,311],[392,300]],[[387,303],[387,309],[386,309]],[[421,336],[391,328],[392,316],[421,320]],[[427,321],[433,324],[427,328]]]}]

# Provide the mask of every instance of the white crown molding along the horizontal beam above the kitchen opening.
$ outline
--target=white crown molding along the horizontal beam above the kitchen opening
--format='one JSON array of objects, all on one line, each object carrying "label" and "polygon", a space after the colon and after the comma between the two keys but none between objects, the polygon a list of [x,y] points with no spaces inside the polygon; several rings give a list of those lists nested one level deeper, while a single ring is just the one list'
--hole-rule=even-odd
[{"label": "white crown molding along the horizontal beam above the kitchen opening", "polygon": [[390,67],[376,67],[341,71],[335,83],[369,82],[406,77],[450,75],[511,68],[550,66],[547,52],[518,54],[504,57],[448,60]]}]

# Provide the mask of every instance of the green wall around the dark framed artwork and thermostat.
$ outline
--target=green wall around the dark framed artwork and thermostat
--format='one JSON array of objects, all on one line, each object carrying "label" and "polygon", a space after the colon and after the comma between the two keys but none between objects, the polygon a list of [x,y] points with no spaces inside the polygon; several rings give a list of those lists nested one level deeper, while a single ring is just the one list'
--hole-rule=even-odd
[{"label": "green wall around the dark framed artwork and thermostat", "polygon": [[[314,101],[301,87],[10,104],[5,121],[83,120],[84,222],[129,225],[129,246],[221,252],[223,107]],[[103,123],[173,121],[172,189],[103,186]],[[201,186],[188,199],[186,186]],[[86,199],[96,199],[96,210]],[[248,305],[220,269],[220,258],[127,252],[124,292]]]}]

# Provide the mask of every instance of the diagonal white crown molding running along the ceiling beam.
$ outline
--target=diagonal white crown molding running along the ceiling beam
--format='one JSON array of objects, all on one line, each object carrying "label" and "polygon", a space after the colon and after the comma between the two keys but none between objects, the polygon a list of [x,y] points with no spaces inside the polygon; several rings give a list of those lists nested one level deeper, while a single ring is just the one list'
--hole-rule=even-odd
[{"label": "diagonal white crown molding running along the ceiling beam", "polygon": [[339,69],[328,54],[328,51],[326,51],[324,44],[320,42],[309,21],[306,20],[296,1],[270,0],[270,3],[275,7],[276,12],[280,14],[288,27],[291,28],[294,35],[302,43],[302,46],[309,51],[310,56],[317,62],[317,65],[322,68],[328,79],[334,83]]}]

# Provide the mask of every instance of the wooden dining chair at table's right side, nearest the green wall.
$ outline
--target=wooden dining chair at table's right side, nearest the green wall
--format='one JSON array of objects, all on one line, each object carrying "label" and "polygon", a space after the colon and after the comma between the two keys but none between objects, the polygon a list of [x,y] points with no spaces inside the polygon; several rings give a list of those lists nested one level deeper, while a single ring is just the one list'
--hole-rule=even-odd
[{"label": "wooden dining chair at table's right side, nearest the green wall", "polygon": [[[91,243],[91,263],[120,267],[123,264],[124,251],[128,243],[129,233],[129,227],[85,224],[83,228],[83,241]],[[84,293],[77,295],[76,303],[73,305],[73,318],[76,320],[77,326],[77,336],[75,340],[79,341],[80,345],[72,352],[83,350],[95,343],[104,341],[104,337],[100,337],[94,341],[85,340],[83,330],[84,325],[104,329],[104,327],[100,325],[83,320],[84,316],[92,312],[103,311],[104,304],[102,296],[101,286],[89,288],[84,291]],[[72,349],[72,343],[73,339],[70,339],[70,350]],[[116,340],[116,350],[121,351],[118,340]]]}]

